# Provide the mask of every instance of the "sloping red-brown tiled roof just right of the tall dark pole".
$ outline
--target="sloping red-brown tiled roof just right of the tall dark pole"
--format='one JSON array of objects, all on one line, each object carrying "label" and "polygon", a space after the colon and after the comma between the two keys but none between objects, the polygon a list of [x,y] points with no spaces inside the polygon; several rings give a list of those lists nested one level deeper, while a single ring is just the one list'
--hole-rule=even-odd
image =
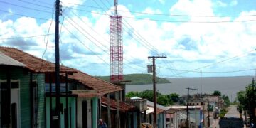
[{"label": "sloping red-brown tiled roof just right of the tall dark pole", "polygon": [[78,73],[73,75],[68,75],[68,78],[73,80],[78,80],[78,82],[82,83],[86,87],[97,90],[100,95],[105,95],[111,92],[117,92],[122,90],[121,87],[114,85],[110,82],[106,82],[99,78],[92,77],[91,75],[87,75],[86,73],[82,73],[81,71],[77,70]]}]

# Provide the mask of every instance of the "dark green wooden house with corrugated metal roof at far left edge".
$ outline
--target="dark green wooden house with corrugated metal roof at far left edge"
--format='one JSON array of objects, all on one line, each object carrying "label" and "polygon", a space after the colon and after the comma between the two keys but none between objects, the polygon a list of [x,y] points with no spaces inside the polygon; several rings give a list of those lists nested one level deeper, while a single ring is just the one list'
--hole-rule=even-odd
[{"label": "dark green wooden house with corrugated metal roof at far left edge", "polygon": [[0,51],[0,86],[1,127],[44,127],[43,75]]}]

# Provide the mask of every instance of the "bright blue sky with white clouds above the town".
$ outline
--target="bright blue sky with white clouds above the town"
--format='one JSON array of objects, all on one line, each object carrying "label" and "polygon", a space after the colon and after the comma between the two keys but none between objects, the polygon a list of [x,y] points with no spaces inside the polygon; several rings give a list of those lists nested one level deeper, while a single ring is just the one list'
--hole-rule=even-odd
[{"label": "bright blue sky with white clouds above the town", "polygon": [[[55,62],[55,1],[0,0],[0,46]],[[112,0],[63,0],[60,63],[90,75],[110,75]],[[255,75],[254,0],[126,0],[122,16],[124,74],[160,77]]]}]

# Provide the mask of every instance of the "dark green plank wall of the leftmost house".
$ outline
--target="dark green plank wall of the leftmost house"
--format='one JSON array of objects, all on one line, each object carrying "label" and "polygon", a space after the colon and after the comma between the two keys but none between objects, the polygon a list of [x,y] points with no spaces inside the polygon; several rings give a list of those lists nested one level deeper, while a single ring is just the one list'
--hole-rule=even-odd
[{"label": "dark green plank wall of the leftmost house", "polygon": [[[30,127],[30,95],[29,81],[30,73],[25,73],[23,68],[11,67],[11,80],[19,80],[20,82],[20,108],[21,108],[21,127]],[[6,80],[6,68],[0,67],[0,80]],[[33,80],[38,82],[38,127],[45,127],[45,100],[44,100],[44,75],[33,75]]]}]

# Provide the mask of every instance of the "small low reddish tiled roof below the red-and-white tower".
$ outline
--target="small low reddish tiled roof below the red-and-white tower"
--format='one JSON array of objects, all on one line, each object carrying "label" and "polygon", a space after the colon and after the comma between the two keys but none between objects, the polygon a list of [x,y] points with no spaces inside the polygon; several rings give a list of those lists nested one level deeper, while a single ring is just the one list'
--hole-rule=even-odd
[{"label": "small low reddish tiled roof below the red-and-white tower", "polygon": [[[107,97],[101,97],[101,103],[103,105],[107,105]],[[110,99],[110,107],[117,109],[117,101]],[[119,109],[122,112],[128,112],[129,110],[133,110],[135,107],[132,105],[128,105],[125,102],[119,102]]]}]

